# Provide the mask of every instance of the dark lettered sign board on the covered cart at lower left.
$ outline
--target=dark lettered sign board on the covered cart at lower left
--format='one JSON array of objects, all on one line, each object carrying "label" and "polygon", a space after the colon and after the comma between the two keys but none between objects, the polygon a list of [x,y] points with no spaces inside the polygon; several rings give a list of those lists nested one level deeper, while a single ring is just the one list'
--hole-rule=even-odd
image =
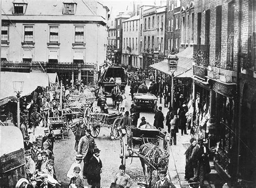
[{"label": "dark lettered sign board on the covered cart at lower left", "polygon": [[25,164],[24,149],[20,149],[10,154],[1,156],[0,158],[0,172],[8,172],[21,165]]}]

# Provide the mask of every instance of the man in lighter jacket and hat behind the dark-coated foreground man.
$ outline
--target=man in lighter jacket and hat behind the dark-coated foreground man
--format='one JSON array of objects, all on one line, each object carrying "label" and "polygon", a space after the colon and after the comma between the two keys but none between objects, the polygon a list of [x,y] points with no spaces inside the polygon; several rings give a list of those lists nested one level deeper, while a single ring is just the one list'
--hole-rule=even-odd
[{"label": "man in lighter jacket and hat behind the dark-coated foreground man", "polygon": [[89,160],[93,155],[93,150],[97,148],[94,139],[91,137],[91,130],[86,129],[86,135],[83,136],[79,143],[77,153],[83,155],[84,159],[84,169],[83,169],[83,177],[87,179],[87,166]]}]

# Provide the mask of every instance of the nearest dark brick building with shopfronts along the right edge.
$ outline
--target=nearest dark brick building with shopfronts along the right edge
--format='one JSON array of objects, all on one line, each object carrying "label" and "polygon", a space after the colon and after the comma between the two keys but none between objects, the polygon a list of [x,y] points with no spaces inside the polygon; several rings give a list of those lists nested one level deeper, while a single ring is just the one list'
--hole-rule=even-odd
[{"label": "nearest dark brick building with shopfronts along the right edge", "polygon": [[193,33],[188,37],[195,44],[196,135],[217,147],[214,164],[225,182],[255,183],[255,1],[193,4],[194,31],[181,34]]}]

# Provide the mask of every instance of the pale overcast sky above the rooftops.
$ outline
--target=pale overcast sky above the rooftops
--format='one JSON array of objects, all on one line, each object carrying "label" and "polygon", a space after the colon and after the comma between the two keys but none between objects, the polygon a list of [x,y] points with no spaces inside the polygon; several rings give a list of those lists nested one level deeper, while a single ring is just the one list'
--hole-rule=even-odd
[{"label": "pale overcast sky above the rooftops", "polygon": [[[114,18],[118,15],[119,12],[126,12],[132,10],[133,0],[98,0],[103,5],[107,6],[111,12],[111,17]],[[160,0],[135,0],[139,5],[153,5],[156,2],[156,5],[160,5]],[[111,10],[112,8],[112,10]]]}]

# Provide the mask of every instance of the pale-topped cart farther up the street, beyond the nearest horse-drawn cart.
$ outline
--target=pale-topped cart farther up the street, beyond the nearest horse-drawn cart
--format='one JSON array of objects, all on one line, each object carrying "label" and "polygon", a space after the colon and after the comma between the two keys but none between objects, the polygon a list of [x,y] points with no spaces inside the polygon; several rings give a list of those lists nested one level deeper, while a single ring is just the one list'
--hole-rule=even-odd
[{"label": "pale-topped cart farther up the street, beyond the nearest horse-drawn cart", "polygon": [[134,93],[133,102],[137,106],[151,108],[153,112],[157,109],[157,97],[149,93]]}]

